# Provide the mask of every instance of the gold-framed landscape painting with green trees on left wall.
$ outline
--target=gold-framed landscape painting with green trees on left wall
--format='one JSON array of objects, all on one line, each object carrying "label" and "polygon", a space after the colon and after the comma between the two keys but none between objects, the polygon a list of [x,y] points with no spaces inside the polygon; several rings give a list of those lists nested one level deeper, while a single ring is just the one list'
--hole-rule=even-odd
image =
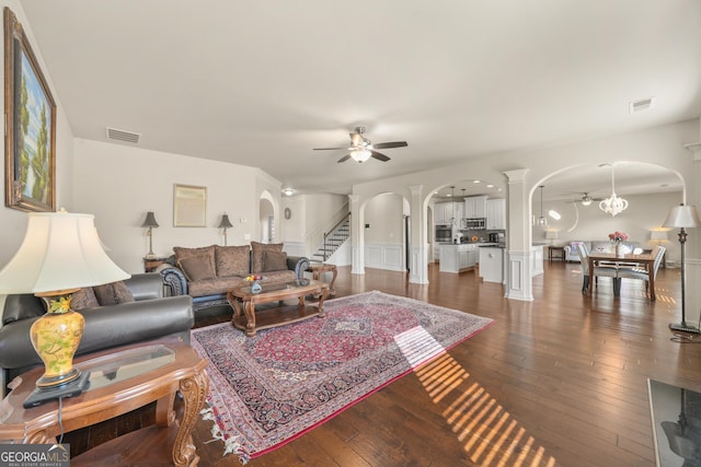
[{"label": "gold-framed landscape painting with green trees on left wall", "polygon": [[4,9],[5,206],[56,211],[56,104],[22,25]]}]

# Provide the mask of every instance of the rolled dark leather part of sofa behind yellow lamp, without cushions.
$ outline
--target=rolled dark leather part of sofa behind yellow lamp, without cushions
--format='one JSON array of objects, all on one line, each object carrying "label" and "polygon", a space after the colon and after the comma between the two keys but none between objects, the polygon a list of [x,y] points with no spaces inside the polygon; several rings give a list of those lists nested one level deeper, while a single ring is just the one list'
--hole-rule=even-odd
[{"label": "rolled dark leather part of sofa behind yellow lamp, without cushions", "polygon": [[[189,342],[189,330],[195,323],[189,296],[100,306],[81,314],[85,328],[77,355],[166,336]],[[30,328],[36,319],[38,317],[21,319],[0,328],[0,367],[8,372],[5,382],[42,364],[30,341]]]}]

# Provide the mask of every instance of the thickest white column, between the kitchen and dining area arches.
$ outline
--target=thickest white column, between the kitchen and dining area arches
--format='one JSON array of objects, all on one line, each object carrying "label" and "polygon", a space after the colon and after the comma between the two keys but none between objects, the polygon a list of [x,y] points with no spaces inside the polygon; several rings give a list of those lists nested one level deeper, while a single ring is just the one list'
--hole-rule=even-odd
[{"label": "thickest white column, between the kitchen and dining area arches", "polygon": [[532,301],[532,248],[530,225],[530,198],[526,190],[528,168],[506,171],[508,178],[508,229],[506,230],[505,296]]}]

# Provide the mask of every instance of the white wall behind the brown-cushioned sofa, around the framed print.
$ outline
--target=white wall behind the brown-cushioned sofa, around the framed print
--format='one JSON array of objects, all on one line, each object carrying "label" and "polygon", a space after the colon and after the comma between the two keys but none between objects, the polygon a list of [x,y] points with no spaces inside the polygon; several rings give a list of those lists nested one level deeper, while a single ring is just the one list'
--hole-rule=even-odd
[{"label": "white wall behind the brown-cushioned sofa, around the framed print", "polygon": [[[76,209],[95,215],[110,256],[128,272],[143,271],[148,238],[140,225],[147,211],[160,225],[153,230],[159,256],[171,255],[173,246],[223,245],[217,229],[223,212],[233,224],[229,245],[260,237],[257,168],[83,139],[76,139],[74,151]],[[173,226],[175,184],[207,188],[206,227]]]}]

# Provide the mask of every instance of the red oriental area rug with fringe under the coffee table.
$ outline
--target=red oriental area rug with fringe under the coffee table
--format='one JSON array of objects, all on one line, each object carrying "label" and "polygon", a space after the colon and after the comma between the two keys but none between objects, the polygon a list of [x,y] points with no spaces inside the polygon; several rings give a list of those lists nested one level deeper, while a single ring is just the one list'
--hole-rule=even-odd
[{"label": "red oriental area rug with fringe under the coffee table", "polygon": [[367,292],[324,302],[310,318],[245,337],[230,323],[192,330],[208,361],[204,418],[245,464],[325,422],[492,319]]}]

